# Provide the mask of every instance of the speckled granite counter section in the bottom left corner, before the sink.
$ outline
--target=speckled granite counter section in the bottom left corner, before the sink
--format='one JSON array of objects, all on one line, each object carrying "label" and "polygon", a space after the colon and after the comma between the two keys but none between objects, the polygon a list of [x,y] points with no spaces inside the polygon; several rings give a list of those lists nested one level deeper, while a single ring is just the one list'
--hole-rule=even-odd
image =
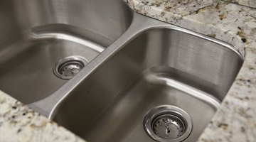
[{"label": "speckled granite counter section in the bottom left corner, before the sink", "polygon": [[0,91],[0,142],[85,142]]}]

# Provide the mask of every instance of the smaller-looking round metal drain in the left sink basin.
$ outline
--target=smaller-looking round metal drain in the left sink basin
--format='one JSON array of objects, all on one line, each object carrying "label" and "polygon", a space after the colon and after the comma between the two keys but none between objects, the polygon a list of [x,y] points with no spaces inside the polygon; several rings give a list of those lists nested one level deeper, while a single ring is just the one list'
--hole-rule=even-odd
[{"label": "smaller-looking round metal drain in the left sink basin", "polygon": [[64,80],[68,80],[87,65],[87,60],[80,56],[68,56],[59,60],[53,67],[54,74]]}]

